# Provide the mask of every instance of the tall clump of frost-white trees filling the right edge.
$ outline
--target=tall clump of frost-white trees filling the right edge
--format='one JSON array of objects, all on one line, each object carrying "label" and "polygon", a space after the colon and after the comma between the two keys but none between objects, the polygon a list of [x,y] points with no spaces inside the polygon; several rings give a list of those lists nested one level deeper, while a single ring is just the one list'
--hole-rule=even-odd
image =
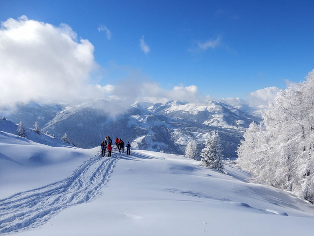
[{"label": "tall clump of frost-white trees filling the right edge", "polygon": [[238,149],[238,164],[254,174],[251,181],[314,202],[314,71],[305,82],[278,92],[262,124],[253,126]]}]

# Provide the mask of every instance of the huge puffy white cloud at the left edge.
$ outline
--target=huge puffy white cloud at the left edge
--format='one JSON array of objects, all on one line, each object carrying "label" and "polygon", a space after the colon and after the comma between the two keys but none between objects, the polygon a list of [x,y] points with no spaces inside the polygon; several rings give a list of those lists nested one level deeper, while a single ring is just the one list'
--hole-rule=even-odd
[{"label": "huge puffy white cloud at the left edge", "polygon": [[81,96],[96,65],[93,51],[66,24],[53,26],[26,16],[1,22],[0,106]]}]

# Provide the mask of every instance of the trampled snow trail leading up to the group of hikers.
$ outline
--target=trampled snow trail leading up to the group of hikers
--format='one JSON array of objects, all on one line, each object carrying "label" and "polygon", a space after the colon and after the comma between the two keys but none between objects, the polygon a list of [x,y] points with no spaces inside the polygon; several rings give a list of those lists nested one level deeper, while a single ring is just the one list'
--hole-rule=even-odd
[{"label": "trampled snow trail leading up to the group of hikers", "polygon": [[0,200],[0,234],[35,228],[61,210],[101,194],[119,155],[100,154],[85,161],[64,180]]}]

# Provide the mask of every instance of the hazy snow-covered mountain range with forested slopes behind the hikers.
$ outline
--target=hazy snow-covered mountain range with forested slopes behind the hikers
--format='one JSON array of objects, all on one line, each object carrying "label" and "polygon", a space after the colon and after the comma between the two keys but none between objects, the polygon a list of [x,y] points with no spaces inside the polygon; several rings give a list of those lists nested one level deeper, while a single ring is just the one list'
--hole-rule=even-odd
[{"label": "hazy snow-covered mountain range with forested slopes behind the hikers", "polygon": [[40,122],[43,132],[61,137],[67,133],[71,143],[82,148],[100,145],[109,135],[130,141],[132,148],[165,153],[183,154],[188,139],[195,139],[199,148],[212,130],[218,130],[226,158],[235,157],[235,150],[243,131],[254,117],[221,102],[206,101],[189,103],[169,101],[166,103],[136,102],[121,112],[111,101],[97,100],[62,107],[28,104],[19,106],[8,116],[32,126]]}]

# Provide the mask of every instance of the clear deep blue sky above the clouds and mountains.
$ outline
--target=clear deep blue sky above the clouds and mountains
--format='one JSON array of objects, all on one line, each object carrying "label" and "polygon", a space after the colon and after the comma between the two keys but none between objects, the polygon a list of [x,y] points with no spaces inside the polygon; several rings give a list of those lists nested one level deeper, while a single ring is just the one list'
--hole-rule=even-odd
[{"label": "clear deep blue sky above the clouds and mountains", "polygon": [[66,23],[88,39],[102,85],[134,70],[162,88],[193,84],[216,98],[302,81],[314,68],[313,12],[313,1],[300,0],[0,1],[1,21]]}]

